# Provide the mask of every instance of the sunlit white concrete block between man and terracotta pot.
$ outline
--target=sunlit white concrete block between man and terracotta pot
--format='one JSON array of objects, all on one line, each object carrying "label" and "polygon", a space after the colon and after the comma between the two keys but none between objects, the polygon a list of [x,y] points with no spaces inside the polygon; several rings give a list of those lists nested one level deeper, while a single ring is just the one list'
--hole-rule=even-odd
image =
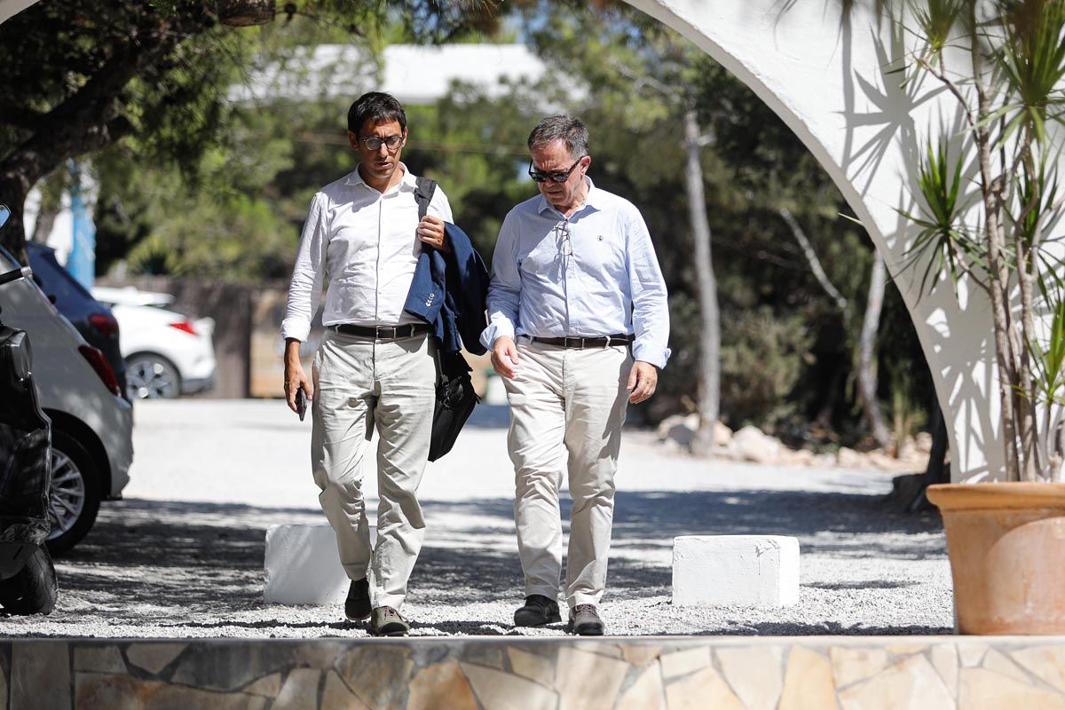
[{"label": "sunlit white concrete block between man and terracotta pot", "polygon": [[799,601],[799,540],[783,535],[673,539],[673,604],[788,607]]}]

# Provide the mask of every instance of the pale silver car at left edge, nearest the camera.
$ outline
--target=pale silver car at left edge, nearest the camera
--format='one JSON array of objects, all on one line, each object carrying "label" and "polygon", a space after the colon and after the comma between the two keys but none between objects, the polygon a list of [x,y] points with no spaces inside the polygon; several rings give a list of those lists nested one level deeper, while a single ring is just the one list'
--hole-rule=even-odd
[{"label": "pale silver car at left edge, nearest the camera", "polygon": [[133,462],[133,409],[102,353],[3,249],[0,318],[29,335],[40,408],[52,420],[48,547],[59,554],[89,531],[101,499],[121,497]]}]

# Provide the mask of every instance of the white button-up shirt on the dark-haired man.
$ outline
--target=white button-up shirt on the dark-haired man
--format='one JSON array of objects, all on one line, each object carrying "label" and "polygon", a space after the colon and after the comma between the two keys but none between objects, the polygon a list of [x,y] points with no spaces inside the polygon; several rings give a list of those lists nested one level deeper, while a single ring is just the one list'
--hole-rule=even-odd
[{"label": "white button-up shirt on the dark-haired man", "polygon": [[[367,185],[356,169],[314,195],[289,285],[283,337],[307,340],[323,282],[327,284],[324,326],[422,323],[403,309],[422,242],[415,234],[415,179],[403,163],[399,169],[403,180],[383,194]],[[429,214],[454,221],[439,185]]]}]

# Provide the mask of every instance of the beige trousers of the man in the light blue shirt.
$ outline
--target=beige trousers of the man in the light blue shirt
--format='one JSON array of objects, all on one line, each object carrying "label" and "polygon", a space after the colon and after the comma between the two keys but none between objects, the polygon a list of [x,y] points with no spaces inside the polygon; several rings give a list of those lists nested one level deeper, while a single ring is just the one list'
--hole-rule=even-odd
[{"label": "beige trousers of the man in the light blue shirt", "polygon": [[556,598],[562,568],[558,505],[562,447],[568,455],[570,546],[566,600],[599,604],[613,523],[613,474],[628,403],[633,361],[624,346],[567,350],[518,339],[518,373],[507,445],[514,464],[514,523],[525,594]]}]

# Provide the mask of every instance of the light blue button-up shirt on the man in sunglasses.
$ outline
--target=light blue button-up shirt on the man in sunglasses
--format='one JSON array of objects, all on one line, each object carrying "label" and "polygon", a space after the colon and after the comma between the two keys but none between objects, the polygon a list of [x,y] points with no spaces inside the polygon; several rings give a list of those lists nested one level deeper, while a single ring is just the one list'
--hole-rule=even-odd
[{"label": "light blue button-up shirt on the man in sunglasses", "polygon": [[585,179],[585,203],[569,218],[543,195],[507,214],[480,342],[630,333],[633,358],[665,367],[669,306],[648,226],[632,202]]}]

